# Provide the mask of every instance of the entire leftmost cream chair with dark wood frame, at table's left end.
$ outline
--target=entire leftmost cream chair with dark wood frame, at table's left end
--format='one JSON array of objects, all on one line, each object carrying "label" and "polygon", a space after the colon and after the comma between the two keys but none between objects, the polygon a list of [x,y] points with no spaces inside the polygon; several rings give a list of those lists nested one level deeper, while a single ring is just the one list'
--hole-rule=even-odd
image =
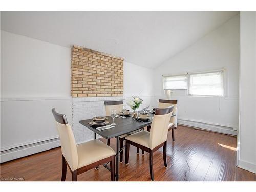
[{"label": "entire leftmost cream chair with dark wood frame, at table's left end", "polygon": [[116,152],[100,140],[91,140],[76,145],[71,126],[65,115],[52,109],[55,118],[62,152],[62,177],[66,180],[67,165],[72,174],[72,181],[77,181],[77,175],[110,162],[111,181],[115,181],[115,155]]}]

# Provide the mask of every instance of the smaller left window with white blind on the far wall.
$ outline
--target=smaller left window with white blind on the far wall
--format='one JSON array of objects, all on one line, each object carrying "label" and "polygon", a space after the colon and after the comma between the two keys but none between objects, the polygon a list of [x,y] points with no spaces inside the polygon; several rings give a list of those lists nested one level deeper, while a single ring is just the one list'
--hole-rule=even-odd
[{"label": "smaller left window with white blind on the far wall", "polygon": [[163,87],[164,90],[187,89],[187,76],[165,76],[163,77]]}]

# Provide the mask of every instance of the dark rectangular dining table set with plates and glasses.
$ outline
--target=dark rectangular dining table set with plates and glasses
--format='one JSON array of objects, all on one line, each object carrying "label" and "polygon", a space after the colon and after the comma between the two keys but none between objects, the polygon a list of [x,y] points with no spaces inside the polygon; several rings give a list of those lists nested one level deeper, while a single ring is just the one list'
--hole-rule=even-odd
[{"label": "dark rectangular dining table set with plates and glasses", "polygon": [[[141,113],[143,111],[138,111],[138,114]],[[140,130],[143,129],[144,127],[150,126],[154,117],[154,113],[148,113],[148,116],[150,117],[150,119],[148,119],[147,121],[142,121],[139,119],[136,119],[134,117],[129,116],[126,118],[121,118],[119,116],[119,118],[115,118],[115,123],[116,125],[111,128],[111,129],[105,129],[102,131],[99,131],[98,129],[96,129],[95,126],[91,126],[89,123],[92,121],[92,119],[86,119],[86,120],[81,120],[79,121],[80,124],[82,124],[83,126],[87,127],[88,129],[90,129],[91,131],[94,132],[94,139],[97,139],[97,134],[102,136],[105,139],[111,139],[111,138],[116,138],[116,171],[115,171],[115,178],[116,181],[118,181],[119,179],[119,175],[118,175],[118,168],[119,168],[119,153],[124,149],[124,147],[122,147],[121,149],[119,148],[119,136],[123,135],[123,134],[129,134],[130,132],[136,131],[136,130]],[[172,114],[172,117],[176,116],[176,114]],[[113,119],[111,116],[107,116],[108,121],[110,122],[109,124],[112,123]],[[104,167],[107,168],[108,170],[110,170],[110,168],[108,167],[108,164],[104,164]]]}]

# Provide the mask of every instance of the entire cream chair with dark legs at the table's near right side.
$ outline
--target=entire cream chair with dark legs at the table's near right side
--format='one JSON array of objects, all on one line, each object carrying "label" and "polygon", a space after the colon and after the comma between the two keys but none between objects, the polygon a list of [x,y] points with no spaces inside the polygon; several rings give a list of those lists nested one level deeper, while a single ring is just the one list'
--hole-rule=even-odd
[{"label": "entire cream chair with dark legs at the table's near right side", "polygon": [[164,166],[167,167],[166,159],[166,145],[167,145],[167,135],[170,116],[172,115],[173,106],[169,108],[156,109],[156,113],[151,123],[151,130],[140,131],[132,135],[127,136],[126,139],[126,149],[125,149],[125,164],[129,161],[129,148],[130,144],[141,148],[142,150],[150,154],[150,177],[154,181],[154,171],[153,171],[153,153],[157,151],[160,147],[163,147],[163,161]]}]

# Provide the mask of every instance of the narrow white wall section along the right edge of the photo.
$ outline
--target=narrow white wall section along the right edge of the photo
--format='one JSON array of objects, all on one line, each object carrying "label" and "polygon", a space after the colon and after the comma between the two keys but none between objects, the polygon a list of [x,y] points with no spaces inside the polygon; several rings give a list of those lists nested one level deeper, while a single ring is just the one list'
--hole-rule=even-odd
[{"label": "narrow white wall section along the right edge of the photo", "polygon": [[256,173],[256,12],[241,12],[238,166]]}]

